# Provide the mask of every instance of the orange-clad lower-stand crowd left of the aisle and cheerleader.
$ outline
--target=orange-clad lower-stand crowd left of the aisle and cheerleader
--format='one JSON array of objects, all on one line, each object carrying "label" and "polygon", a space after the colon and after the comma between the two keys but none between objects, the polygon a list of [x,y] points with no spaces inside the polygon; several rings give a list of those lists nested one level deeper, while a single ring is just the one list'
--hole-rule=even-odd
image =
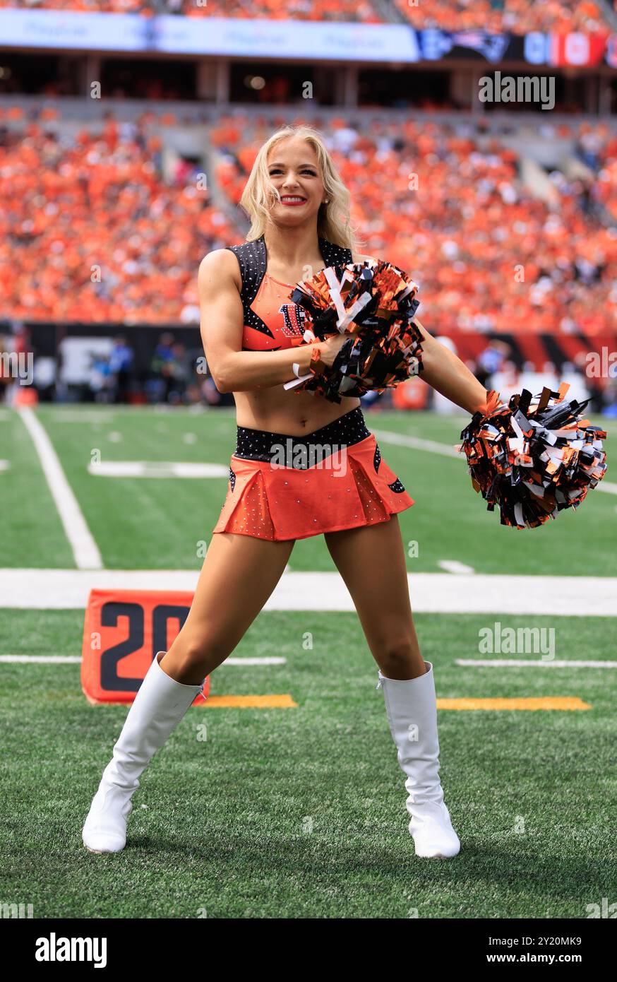
[{"label": "orange-clad lower-stand crowd left of the aisle and cheerleader", "polygon": [[199,260],[238,230],[183,161],[163,179],[161,148],[113,121],[61,140],[38,123],[5,133],[0,316],[156,324],[194,310]]}]

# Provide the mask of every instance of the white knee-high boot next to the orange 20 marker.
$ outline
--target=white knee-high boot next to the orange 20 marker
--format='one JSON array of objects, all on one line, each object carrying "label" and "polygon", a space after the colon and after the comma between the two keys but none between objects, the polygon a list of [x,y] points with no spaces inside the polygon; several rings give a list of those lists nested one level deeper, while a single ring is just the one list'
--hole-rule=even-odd
[{"label": "white knee-high boot next to the orange 20 marker", "polygon": [[83,845],[91,852],[120,852],[127,843],[127,819],[139,775],[180,723],[201,685],[184,685],[168,676],[158,651],[129,709],[111,761],[103,771],[83,826]]}]

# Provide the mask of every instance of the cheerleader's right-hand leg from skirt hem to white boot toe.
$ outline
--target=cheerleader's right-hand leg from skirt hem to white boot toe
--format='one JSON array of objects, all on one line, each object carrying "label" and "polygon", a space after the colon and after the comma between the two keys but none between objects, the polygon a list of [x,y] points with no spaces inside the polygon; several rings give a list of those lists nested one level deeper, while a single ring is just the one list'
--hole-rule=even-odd
[{"label": "cheerleader's right-hand leg from skirt hem to white boot toe", "polygon": [[439,781],[433,665],[420,654],[398,518],[329,532],[325,538],[379,666],[378,688],[384,690],[390,734],[407,778],[416,854],[454,856],[460,842]]}]

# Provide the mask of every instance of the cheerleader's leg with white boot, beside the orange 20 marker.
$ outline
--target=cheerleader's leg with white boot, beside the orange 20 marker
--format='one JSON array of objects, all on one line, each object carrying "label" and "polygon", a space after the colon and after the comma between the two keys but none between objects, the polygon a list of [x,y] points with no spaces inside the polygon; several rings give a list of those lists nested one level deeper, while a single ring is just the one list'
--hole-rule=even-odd
[{"label": "cheerleader's leg with white boot, beside the orange 20 marker", "polygon": [[292,548],[293,540],[212,536],[186,621],[169,651],[159,651],[148,669],[92,800],[82,832],[90,851],[125,847],[139,776],[202,691],[205,677],[259,614]]}]

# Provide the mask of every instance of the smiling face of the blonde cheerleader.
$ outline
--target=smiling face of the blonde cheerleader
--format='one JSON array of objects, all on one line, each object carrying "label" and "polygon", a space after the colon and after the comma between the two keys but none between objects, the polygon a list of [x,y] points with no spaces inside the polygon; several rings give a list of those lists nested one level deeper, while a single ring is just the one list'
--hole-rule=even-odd
[{"label": "smiling face of the blonde cheerleader", "polygon": [[317,153],[299,137],[279,140],[268,155],[268,174],[281,195],[271,205],[273,219],[281,225],[317,221],[322,201],[328,197],[319,171]]}]

